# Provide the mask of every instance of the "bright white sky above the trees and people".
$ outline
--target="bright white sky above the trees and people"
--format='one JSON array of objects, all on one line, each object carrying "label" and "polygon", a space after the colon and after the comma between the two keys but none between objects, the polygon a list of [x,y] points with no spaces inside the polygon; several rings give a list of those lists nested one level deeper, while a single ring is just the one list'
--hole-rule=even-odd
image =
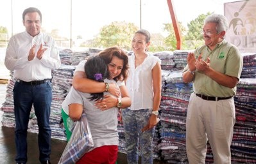
[{"label": "bright white sky above the trees and people", "polygon": [[[234,1],[172,0],[176,19],[185,27],[200,14],[223,14],[224,3]],[[114,21],[132,22],[150,33],[164,35],[163,24],[171,23],[167,0],[2,0],[0,26],[7,27],[10,34],[24,31],[22,12],[30,6],[42,12],[43,29],[58,29],[61,36],[68,38],[80,35],[85,40],[92,39],[101,27]]]}]

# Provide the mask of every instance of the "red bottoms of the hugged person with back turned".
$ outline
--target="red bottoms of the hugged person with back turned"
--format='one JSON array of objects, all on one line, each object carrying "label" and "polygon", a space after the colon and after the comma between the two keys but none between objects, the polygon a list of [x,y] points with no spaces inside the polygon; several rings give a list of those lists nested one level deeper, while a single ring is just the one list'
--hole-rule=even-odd
[{"label": "red bottoms of the hugged person with back turned", "polygon": [[76,164],[115,164],[117,153],[117,145],[103,145],[85,153]]}]

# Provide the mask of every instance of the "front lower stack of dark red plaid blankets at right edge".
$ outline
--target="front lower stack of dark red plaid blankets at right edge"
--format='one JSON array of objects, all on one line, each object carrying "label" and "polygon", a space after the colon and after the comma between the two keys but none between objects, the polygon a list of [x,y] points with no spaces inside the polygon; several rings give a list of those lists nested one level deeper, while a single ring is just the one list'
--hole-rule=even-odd
[{"label": "front lower stack of dark red plaid blankets at right edge", "polygon": [[256,78],[240,78],[234,100],[232,163],[256,163]]}]

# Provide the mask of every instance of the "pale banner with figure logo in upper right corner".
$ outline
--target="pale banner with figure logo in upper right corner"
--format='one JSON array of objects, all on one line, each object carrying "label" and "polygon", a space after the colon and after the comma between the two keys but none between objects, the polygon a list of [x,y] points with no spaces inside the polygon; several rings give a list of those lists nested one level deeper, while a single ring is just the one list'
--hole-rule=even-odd
[{"label": "pale banner with figure logo in upper right corner", "polygon": [[228,19],[226,40],[236,45],[240,52],[256,52],[256,1],[236,1],[224,4]]}]

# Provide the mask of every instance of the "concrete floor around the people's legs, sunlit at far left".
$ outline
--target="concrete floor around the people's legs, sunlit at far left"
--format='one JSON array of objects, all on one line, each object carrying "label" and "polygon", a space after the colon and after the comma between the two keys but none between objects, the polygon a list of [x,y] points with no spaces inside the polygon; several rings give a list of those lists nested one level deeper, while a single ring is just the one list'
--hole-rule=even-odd
[{"label": "concrete floor around the people's legs, sunlit at far left", "polygon": [[[0,84],[0,108],[4,103],[7,84]],[[15,163],[15,139],[14,128],[6,128],[1,126],[3,112],[0,111],[0,164]],[[51,163],[57,164],[67,142],[64,140],[51,139]],[[40,164],[38,160],[38,144],[37,133],[28,133],[28,163]],[[119,153],[117,158],[118,164],[127,164],[126,154]],[[154,161],[154,164],[164,164],[164,161]]]}]

